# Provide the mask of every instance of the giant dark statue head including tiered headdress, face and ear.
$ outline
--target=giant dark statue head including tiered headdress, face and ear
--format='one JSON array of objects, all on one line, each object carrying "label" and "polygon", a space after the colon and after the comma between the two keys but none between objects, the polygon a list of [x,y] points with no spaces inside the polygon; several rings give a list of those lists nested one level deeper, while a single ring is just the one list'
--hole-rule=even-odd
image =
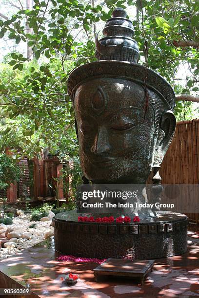
[{"label": "giant dark statue head including tiered headdress, face and ear", "polygon": [[117,8],[96,38],[99,61],[68,79],[84,176],[92,183],[144,184],[159,167],[176,127],[175,94],[153,70],[138,64],[133,24]]}]

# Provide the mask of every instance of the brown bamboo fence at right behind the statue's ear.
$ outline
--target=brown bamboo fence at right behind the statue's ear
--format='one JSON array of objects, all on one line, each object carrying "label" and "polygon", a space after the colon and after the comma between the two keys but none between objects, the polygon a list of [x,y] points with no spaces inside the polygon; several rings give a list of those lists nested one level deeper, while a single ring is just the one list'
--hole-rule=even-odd
[{"label": "brown bamboo fence at right behind the statue's ear", "polygon": [[[181,204],[190,220],[199,223],[199,213],[189,213],[199,204],[199,191],[197,187],[191,187],[199,184],[199,119],[177,122],[173,141],[159,172],[163,185],[190,185],[182,194]],[[182,187],[182,191],[185,188]],[[163,201],[166,203],[164,198]]]}]

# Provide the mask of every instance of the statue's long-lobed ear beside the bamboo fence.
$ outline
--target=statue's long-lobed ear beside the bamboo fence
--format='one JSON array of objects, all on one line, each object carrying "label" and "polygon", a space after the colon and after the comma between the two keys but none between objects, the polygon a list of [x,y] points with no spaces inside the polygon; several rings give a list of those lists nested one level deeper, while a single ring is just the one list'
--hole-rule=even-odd
[{"label": "statue's long-lobed ear beside the bamboo fence", "polygon": [[159,133],[156,143],[154,164],[160,165],[164,155],[169,148],[176,129],[176,117],[172,111],[164,113],[159,122]]}]

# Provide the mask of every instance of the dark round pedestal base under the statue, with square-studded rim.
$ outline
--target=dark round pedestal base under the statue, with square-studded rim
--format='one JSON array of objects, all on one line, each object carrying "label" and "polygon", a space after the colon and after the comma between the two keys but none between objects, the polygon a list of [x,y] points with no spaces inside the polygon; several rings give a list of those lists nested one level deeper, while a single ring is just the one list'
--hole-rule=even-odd
[{"label": "dark round pedestal base under the statue, with square-studded rim", "polygon": [[159,211],[139,223],[80,223],[76,210],[53,219],[55,249],[86,258],[157,259],[187,251],[188,218]]}]

